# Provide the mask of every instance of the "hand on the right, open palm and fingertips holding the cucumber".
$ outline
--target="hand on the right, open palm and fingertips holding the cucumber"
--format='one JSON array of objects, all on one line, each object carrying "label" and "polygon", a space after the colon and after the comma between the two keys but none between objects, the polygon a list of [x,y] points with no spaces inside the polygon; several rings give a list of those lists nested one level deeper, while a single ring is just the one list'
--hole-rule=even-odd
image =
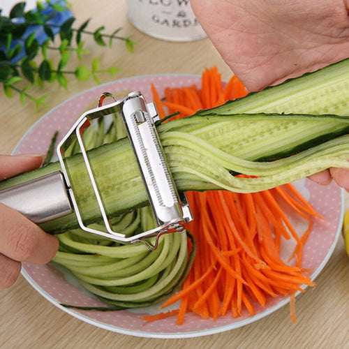
[{"label": "hand on the right, open palm and fingertips holding the cucumber", "polygon": [[[348,0],[191,0],[202,28],[249,91],[279,84],[349,57]],[[334,179],[349,191],[349,171]]]}]

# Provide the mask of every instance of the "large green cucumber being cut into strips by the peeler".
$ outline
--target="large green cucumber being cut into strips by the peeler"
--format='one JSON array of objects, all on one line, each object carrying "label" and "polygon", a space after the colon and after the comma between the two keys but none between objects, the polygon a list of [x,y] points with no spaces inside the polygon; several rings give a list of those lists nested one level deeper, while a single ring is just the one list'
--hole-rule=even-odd
[{"label": "large green cucumber being cut into strips by the peeler", "polygon": [[[347,59],[221,107],[159,125],[177,188],[247,193],[332,166],[349,168],[348,79]],[[126,138],[92,149],[89,158],[110,215],[147,205]],[[71,156],[67,164],[84,221],[99,221],[81,155]],[[57,170],[59,164],[52,163],[20,174],[1,181],[0,190]],[[235,177],[238,173],[260,177]],[[62,232],[76,228],[77,221],[70,214],[41,226],[47,232]]]}]

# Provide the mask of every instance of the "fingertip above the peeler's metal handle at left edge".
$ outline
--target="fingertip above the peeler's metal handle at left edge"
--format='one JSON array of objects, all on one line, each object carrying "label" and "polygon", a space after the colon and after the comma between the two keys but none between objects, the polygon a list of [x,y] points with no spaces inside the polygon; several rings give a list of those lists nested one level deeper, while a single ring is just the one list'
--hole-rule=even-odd
[{"label": "fingertip above the peeler's metal handle at left edge", "polygon": [[40,168],[43,159],[40,154],[0,155],[0,180]]}]

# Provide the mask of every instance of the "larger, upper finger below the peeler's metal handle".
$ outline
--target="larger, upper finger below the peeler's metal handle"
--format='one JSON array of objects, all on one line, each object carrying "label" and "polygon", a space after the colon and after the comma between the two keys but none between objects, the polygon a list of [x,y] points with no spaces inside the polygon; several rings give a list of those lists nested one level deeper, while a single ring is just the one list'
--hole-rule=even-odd
[{"label": "larger, upper finger below the peeler's metal handle", "polygon": [[45,264],[58,250],[58,239],[14,209],[0,204],[0,253],[20,262]]}]

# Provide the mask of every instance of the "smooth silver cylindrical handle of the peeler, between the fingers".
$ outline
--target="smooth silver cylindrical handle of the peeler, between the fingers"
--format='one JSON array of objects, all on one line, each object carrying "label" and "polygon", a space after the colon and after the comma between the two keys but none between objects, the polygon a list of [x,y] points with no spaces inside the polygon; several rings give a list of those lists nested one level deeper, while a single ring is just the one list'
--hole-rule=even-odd
[{"label": "smooth silver cylindrical handle of the peeler, between the fingers", "polygon": [[36,224],[73,212],[59,171],[0,191],[0,202]]}]

